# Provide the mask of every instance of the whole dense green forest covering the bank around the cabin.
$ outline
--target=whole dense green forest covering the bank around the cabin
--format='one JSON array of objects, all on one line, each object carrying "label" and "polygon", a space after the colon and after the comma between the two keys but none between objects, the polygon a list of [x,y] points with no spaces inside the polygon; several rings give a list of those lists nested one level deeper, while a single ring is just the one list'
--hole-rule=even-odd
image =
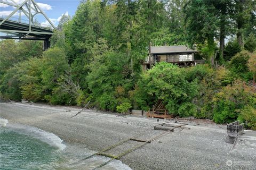
[{"label": "whole dense green forest covering the bank around the cabin", "polygon": [[[196,48],[206,64],[142,71],[150,42]],[[256,74],[256,1],[82,1],[42,44],[0,41],[1,98],[117,112],[162,100],[179,117],[256,129],[255,87],[240,83]]]}]

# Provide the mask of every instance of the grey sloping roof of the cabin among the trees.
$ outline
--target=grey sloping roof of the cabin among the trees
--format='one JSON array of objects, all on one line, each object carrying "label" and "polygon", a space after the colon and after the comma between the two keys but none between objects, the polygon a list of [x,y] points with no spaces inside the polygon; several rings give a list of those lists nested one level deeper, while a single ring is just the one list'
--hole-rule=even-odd
[{"label": "grey sloping roof of the cabin among the trees", "polygon": [[196,50],[186,46],[151,46],[151,54],[195,53]]}]

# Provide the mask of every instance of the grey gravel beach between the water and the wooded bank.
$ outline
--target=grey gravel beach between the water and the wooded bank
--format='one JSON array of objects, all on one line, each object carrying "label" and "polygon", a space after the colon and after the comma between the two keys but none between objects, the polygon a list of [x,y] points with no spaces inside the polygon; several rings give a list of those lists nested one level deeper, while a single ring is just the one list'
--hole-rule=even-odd
[{"label": "grey gravel beach between the water and the wooded bank", "polygon": [[[80,108],[42,104],[0,104],[0,116],[10,123],[35,126],[58,135],[68,145],[79,145],[98,151],[164,123],[156,118],[100,112],[85,109],[75,117]],[[233,146],[226,143],[226,126],[188,123],[190,129],[177,128],[163,137],[123,156],[120,160],[132,169],[255,169],[256,132],[245,130]],[[178,123],[181,123],[178,121]],[[148,140],[162,133],[149,130],[138,139]],[[141,144],[129,141],[111,149],[107,154],[121,152]]]}]

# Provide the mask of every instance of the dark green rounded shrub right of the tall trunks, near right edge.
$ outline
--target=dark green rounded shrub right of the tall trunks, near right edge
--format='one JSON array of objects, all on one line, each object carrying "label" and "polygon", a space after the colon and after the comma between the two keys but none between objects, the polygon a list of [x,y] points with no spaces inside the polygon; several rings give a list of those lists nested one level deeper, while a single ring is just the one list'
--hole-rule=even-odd
[{"label": "dark green rounded shrub right of the tall trunks, near right edge", "polygon": [[249,67],[247,65],[250,56],[251,53],[243,50],[231,58],[228,67],[235,78],[241,78],[246,81],[252,79],[253,74],[249,71]]}]

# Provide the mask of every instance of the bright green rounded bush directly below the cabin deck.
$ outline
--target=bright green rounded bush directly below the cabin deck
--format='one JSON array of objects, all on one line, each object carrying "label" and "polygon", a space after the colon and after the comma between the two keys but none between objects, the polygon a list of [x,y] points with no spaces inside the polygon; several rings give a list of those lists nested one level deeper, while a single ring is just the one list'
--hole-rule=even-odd
[{"label": "bright green rounded bush directly below the cabin deck", "polygon": [[[146,108],[144,104],[153,105],[160,99],[169,113],[188,116],[195,112],[191,100],[197,96],[198,89],[197,79],[186,80],[185,69],[162,62],[142,74],[138,82],[137,103],[141,108]],[[141,98],[140,94],[144,94],[145,97]]]}]

